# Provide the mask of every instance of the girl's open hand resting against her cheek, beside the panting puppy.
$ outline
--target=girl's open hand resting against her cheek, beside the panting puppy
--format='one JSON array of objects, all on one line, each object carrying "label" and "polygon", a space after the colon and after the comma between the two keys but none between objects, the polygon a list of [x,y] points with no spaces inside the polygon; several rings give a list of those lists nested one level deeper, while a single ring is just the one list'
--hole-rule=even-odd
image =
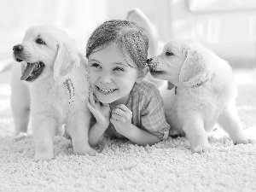
[{"label": "girl's open hand resting against her cheek, beside the panting puppy", "polygon": [[96,124],[102,129],[107,129],[110,119],[110,108],[108,103],[101,103],[93,95],[93,90],[90,88],[89,101],[86,102],[87,107],[96,119]]}]

